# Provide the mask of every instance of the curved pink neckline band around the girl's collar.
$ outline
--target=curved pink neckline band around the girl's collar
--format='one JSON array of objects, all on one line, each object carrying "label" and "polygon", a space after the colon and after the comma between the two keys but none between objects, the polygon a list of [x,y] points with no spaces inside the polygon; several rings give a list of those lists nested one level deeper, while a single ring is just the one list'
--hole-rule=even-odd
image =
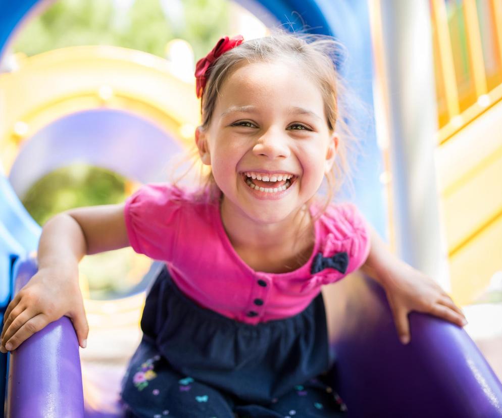
[{"label": "curved pink neckline band around the girl's collar", "polygon": [[[218,230],[218,234],[220,235],[220,238],[223,242],[223,246],[225,247],[226,251],[230,254],[230,256],[232,256],[232,258],[235,260],[235,262],[237,262],[239,266],[241,266],[244,270],[253,275],[288,277],[288,276],[298,276],[298,274],[300,273],[305,274],[306,273],[305,271],[307,271],[307,274],[311,276],[310,266],[312,265],[312,260],[314,259],[315,255],[319,251],[319,220],[314,222],[314,248],[312,250],[312,254],[310,255],[309,259],[303,266],[300,266],[293,271],[285,273],[256,271],[253,270],[251,267],[249,267],[246,262],[244,262],[244,260],[240,257],[239,254],[237,254],[237,251],[235,251],[235,248],[230,242],[230,238],[228,237],[225,228],[223,227],[223,220],[221,219],[221,201],[222,201],[221,196],[222,193],[220,194],[220,196],[218,196],[218,199],[216,199],[216,202],[213,205],[215,211],[214,218],[216,218],[216,229]],[[311,219],[313,218],[313,212],[314,212],[313,206],[314,204],[311,204],[309,206],[309,214],[311,216]]]}]

